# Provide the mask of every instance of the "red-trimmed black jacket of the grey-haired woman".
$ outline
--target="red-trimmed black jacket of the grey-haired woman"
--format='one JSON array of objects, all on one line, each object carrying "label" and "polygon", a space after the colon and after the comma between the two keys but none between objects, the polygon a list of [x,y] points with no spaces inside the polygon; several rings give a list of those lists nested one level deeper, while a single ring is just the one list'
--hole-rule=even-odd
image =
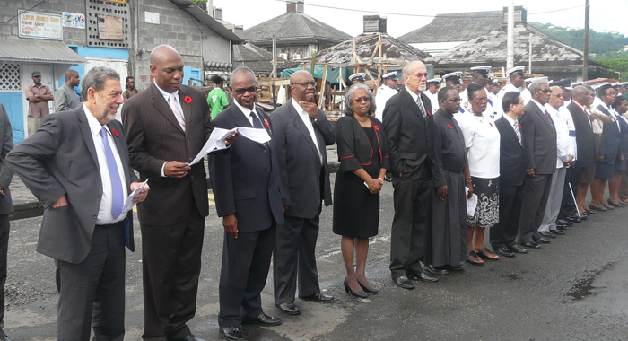
[{"label": "red-trimmed black jacket of the grey-haired woman", "polygon": [[336,122],[338,172],[359,170],[362,166],[370,166],[373,162],[373,154],[379,153],[379,168],[390,169],[390,153],[388,151],[388,139],[382,129],[379,119],[370,117],[371,125],[375,129],[378,138],[377,145],[371,145],[369,136],[364,134],[364,129],[353,116],[345,116]]}]

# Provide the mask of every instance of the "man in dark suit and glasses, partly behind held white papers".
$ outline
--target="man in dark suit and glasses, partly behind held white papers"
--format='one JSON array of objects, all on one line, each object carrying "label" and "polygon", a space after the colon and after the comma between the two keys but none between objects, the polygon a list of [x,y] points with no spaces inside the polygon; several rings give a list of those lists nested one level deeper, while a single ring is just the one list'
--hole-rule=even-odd
[{"label": "man in dark suit and glasses, partly behind held white papers", "polygon": [[[266,129],[272,137],[270,118],[255,105],[253,71],[248,67],[234,70],[230,89],[233,105],[216,116],[214,127]],[[218,325],[221,336],[229,340],[243,338],[242,323],[282,323],[264,313],[260,296],[275,247],[276,226],[284,223],[277,153],[272,140],[258,144],[240,138],[228,154],[210,157],[216,211],[224,226]]]}]

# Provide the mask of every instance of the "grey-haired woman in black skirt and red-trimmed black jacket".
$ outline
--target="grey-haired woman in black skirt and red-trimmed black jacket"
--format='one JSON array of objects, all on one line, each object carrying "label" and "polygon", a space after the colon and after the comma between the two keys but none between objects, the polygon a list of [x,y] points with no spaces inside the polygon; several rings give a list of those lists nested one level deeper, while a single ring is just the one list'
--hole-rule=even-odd
[{"label": "grey-haired woman in black skirt and red-trimmed black jacket", "polygon": [[336,123],[340,168],[334,186],[334,233],[343,236],[345,290],[361,298],[378,292],[364,276],[364,267],[369,237],[378,233],[379,191],[389,168],[384,129],[377,118],[369,116],[372,112],[375,100],[371,90],[362,83],[353,84],[345,94],[346,116]]}]

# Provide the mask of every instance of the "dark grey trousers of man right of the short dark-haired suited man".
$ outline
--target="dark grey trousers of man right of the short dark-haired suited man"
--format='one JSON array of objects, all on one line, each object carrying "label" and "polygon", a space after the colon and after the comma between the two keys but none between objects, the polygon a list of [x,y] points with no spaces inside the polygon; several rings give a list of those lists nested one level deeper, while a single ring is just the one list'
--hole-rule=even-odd
[{"label": "dark grey trousers of man right of the short dark-haired suited man", "polygon": [[519,243],[527,243],[541,238],[538,227],[543,223],[547,198],[552,189],[554,174],[536,174],[526,177],[523,183],[523,204],[519,218]]}]

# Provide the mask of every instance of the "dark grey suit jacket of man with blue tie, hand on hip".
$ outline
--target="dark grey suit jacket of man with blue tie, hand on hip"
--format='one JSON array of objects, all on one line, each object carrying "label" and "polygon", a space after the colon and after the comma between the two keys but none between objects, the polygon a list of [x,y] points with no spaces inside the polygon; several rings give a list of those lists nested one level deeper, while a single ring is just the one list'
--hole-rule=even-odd
[{"label": "dark grey suit jacket of man with blue tie, hand on hip", "polygon": [[[83,106],[48,115],[35,134],[6,156],[26,187],[44,205],[37,251],[74,264],[81,263],[92,249],[102,197],[98,155],[85,115]],[[113,138],[130,193],[131,182],[138,179],[129,165],[122,125],[113,120],[107,126],[112,132],[119,132]],[[50,207],[63,195],[68,206]],[[128,212],[126,228],[131,228],[132,221],[132,212]],[[129,249],[135,248],[132,241],[133,238]]]}]

